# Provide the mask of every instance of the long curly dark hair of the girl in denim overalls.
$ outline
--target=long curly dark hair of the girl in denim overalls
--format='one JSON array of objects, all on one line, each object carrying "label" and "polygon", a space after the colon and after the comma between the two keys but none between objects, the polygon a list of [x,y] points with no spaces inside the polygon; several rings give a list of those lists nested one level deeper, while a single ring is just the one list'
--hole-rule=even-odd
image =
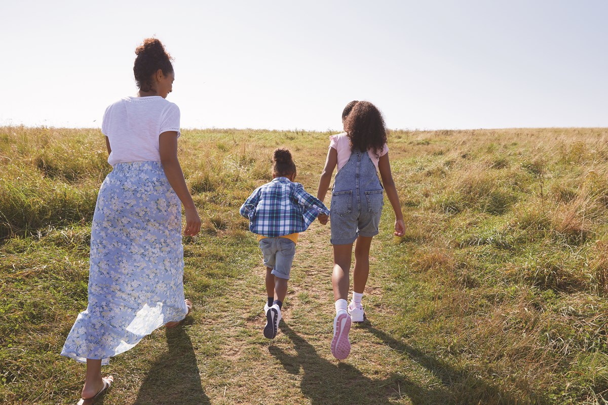
[{"label": "long curly dark hair of the girl in denim overalls", "polygon": [[345,118],[343,112],[342,117],[351,149],[361,152],[373,149],[379,154],[386,143],[386,126],[382,113],[369,101],[351,101],[344,111],[347,109],[350,111]]}]

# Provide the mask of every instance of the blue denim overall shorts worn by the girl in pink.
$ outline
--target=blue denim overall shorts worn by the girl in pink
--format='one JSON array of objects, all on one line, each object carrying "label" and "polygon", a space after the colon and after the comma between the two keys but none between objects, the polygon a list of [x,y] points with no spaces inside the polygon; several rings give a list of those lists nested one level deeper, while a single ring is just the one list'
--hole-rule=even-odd
[{"label": "blue denim overall shorts worn by the girl in pink", "polygon": [[358,236],[378,234],[384,195],[368,152],[351,152],[331,191],[332,245],[348,245]]}]

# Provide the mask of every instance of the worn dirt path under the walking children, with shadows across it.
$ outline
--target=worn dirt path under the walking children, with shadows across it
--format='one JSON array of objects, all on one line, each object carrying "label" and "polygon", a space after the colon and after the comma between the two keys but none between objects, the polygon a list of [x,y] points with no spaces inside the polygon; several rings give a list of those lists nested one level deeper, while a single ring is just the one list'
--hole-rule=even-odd
[{"label": "worn dirt path under the walking children, with shadows across it", "polygon": [[[381,332],[390,311],[382,305],[380,272],[373,260],[364,296],[368,321],[353,325],[353,348],[345,361],[331,355],[329,239],[329,228],[318,222],[300,235],[275,339],[262,334],[266,294],[260,259],[217,302],[195,308],[190,325],[166,333],[168,353],[159,356],[139,387],[134,384],[136,396],[128,403],[412,403],[400,393],[409,361],[396,350],[399,342]],[[169,392],[167,381],[174,381]]]}]

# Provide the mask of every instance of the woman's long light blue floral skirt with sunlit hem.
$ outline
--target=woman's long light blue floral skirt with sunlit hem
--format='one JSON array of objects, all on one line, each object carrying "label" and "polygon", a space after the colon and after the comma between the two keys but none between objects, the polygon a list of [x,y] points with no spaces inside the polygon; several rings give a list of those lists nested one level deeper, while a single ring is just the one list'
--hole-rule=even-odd
[{"label": "woman's long light blue floral skirt with sunlit hem", "polygon": [[134,347],[184,318],[181,205],[160,162],[117,163],[91,227],[89,304],[61,355],[85,362]]}]

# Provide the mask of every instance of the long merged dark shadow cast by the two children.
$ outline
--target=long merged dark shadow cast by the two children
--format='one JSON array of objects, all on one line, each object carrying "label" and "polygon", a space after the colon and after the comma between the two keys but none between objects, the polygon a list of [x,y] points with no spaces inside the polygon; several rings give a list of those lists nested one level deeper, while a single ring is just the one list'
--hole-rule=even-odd
[{"label": "long merged dark shadow cast by the two children", "polygon": [[[513,398],[497,387],[491,386],[465,370],[457,370],[445,362],[427,355],[392,336],[372,327],[368,322],[359,327],[376,335],[395,351],[405,364],[418,363],[435,375],[441,383],[421,385],[407,378],[405,372],[391,373],[384,379],[363,375],[345,362],[337,365],[321,358],[313,345],[295,333],[285,323],[282,332],[291,339],[297,355],[286,354],[271,345],[269,352],[285,367],[288,373],[298,375],[303,369],[300,388],[314,405],[330,404],[394,404],[396,400],[409,398],[412,404],[519,404],[523,398]],[[356,347],[354,348],[356,350]],[[407,362],[406,362],[407,361]],[[424,379],[421,376],[421,379]],[[546,398],[535,398],[536,403],[548,403]]]}]

